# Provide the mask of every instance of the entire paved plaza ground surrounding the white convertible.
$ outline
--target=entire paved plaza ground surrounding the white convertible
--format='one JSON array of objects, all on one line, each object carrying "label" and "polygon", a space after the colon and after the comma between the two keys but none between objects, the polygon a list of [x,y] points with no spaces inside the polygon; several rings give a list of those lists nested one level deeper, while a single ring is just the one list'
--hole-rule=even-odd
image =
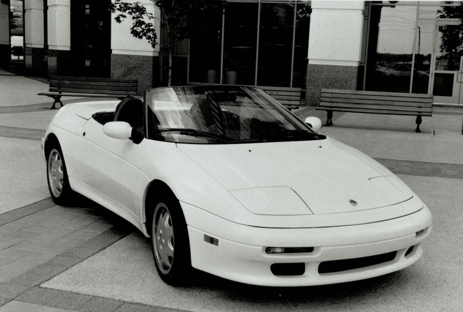
[{"label": "entire paved plaza ground surrounding the white convertible", "polygon": [[[7,82],[7,83],[4,83]],[[18,92],[21,89],[21,93]],[[374,157],[430,207],[423,259],[406,270],[321,287],[254,287],[198,273],[191,287],[157,277],[149,240],[119,216],[80,198],[54,205],[38,140],[56,111],[48,86],[0,70],[0,312],[446,310],[463,306],[463,108],[423,118],[335,114],[321,132]],[[66,99],[64,103],[83,101]],[[14,103],[14,104],[11,104]],[[301,119],[325,113],[304,107]],[[295,166],[299,166],[296,164]]]}]

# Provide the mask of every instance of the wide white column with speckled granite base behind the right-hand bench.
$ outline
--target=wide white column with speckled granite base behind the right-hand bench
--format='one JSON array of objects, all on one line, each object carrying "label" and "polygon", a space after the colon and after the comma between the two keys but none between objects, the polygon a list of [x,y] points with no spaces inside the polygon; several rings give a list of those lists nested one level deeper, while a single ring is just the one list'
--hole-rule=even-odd
[{"label": "wide white column with speckled granite base behind the right-hand bench", "polygon": [[305,102],[320,103],[320,89],[357,86],[363,1],[312,1]]}]

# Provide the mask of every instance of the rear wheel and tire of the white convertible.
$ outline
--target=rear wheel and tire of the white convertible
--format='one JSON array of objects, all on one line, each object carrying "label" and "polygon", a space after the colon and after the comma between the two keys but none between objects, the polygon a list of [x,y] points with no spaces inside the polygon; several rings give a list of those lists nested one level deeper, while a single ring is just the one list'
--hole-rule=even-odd
[{"label": "rear wheel and tire of the white convertible", "polygon": [[69,185],[63,151],[57,142],[52,142],[47,153],[47,181],[51,198],[57,205],[68,206],[74,196]]}]

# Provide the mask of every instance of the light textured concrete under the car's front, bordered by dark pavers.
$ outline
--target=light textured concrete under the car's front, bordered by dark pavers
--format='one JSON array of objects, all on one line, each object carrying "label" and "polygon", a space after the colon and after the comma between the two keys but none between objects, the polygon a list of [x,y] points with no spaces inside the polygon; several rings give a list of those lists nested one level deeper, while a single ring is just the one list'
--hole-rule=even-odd
[{"label": "light textured concrete under the car's front, bordered by dark pavers", "polygon": [[136,232],[42,286],[192,311],[460,311],[463,251],[456,247],[463,240],[463,180],[400,178],[433,212],[433,232],[421,260],[384,277],[320,287],[271,288],[199,273],[192,287],[173,288],[157,276],[149,240]]}]

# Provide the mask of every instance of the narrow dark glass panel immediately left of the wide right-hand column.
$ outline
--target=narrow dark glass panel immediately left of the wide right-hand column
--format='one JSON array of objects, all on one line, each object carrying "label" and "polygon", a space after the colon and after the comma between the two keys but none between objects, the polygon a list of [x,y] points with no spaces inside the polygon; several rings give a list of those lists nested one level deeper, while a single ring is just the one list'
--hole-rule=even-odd
[{"label": "narrow dark glass panel immediately left of the wide right-hand column", "polygon": [[310,4],[298,3],[296,7],[296,34],[294,41],[293,87],[305,88],[307,73],[308,28]]}]

